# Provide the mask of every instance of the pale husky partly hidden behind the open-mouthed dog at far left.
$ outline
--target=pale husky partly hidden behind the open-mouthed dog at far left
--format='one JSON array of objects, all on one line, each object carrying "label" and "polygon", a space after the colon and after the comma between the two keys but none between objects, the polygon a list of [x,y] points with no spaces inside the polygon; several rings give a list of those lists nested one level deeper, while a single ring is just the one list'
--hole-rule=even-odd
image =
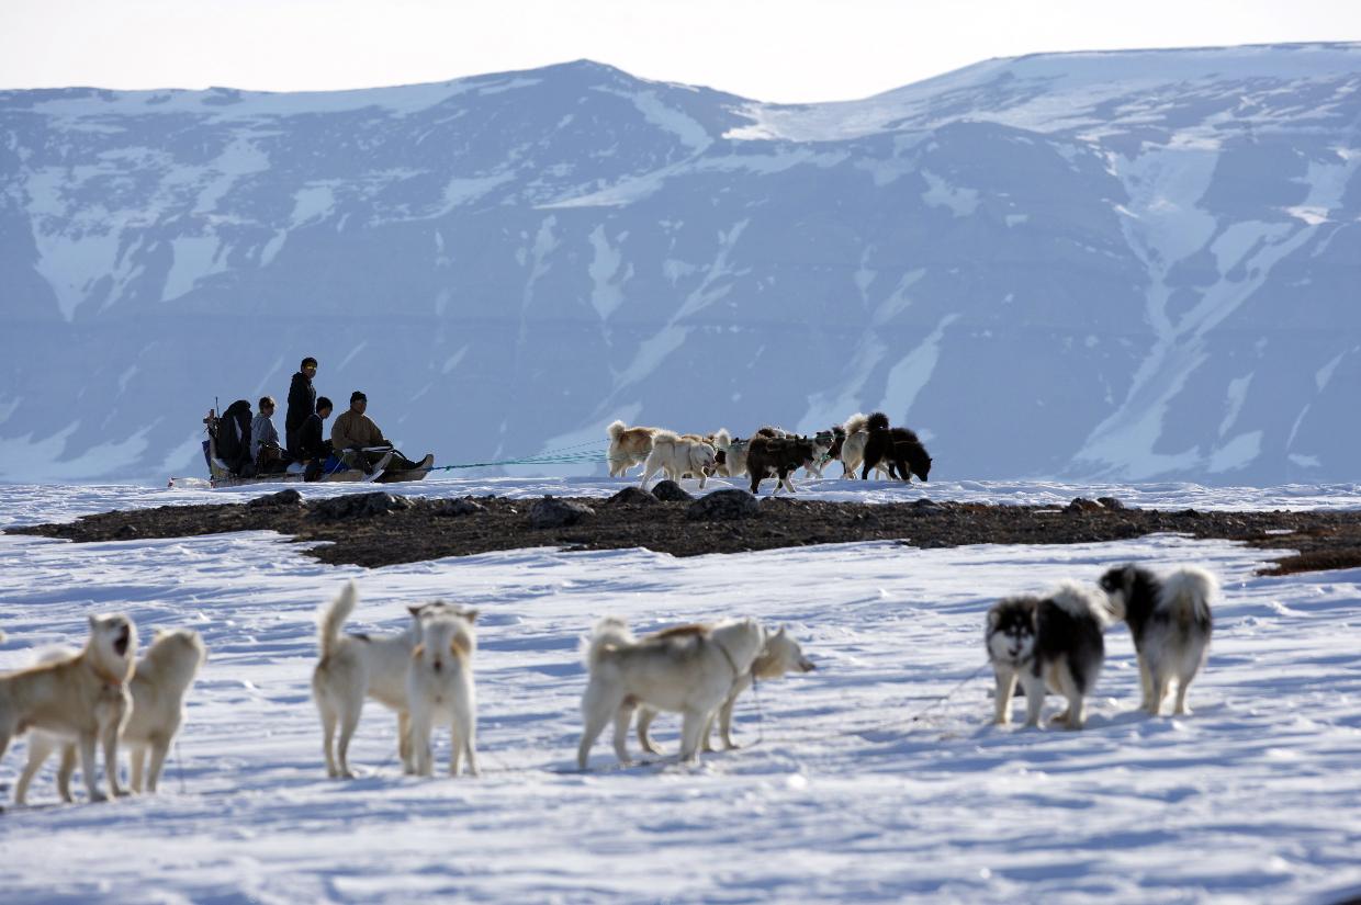
[{"label": "pale husky partly hidden behind the open-mouthed dog at far left", "polygon": [[[53,659],[60,657],[57,652]],[[132,693],[132,714],[122,727],[122,744],[128,748],[132,762],[131,785],[133,792],[155,792],[161,781],[161,768],[165,765],[170,742],[180,732],[184,721],[184,695],[193,683],[199,667],[207,657],[203,638],[193,629],[157,631],[146,655],[137,660],[136,672],[128,682]],[[49,732],[34,729],[29,736],[29,762],[23,768],[14,797],[23,804],[29,784],[48,755],[63,747],[63,739]],[[150,770],[147,755],[151,757]],[[61,751],[61,768],[57,772],[57,792],[63,802],[71,800],[71,774],[76,766],[75,744],[65,744]]]}]

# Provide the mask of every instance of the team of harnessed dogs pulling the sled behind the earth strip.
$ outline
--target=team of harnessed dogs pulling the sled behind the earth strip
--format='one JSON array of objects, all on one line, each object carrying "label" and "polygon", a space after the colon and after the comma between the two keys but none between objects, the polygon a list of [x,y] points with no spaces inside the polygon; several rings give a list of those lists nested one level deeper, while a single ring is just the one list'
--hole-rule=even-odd
[{"label": "team of harnessed dogs pulling the sled behind the earth strip", "polygon": [[646,490],[657,474],[671,480],[686,475],[705,482],[713,476],[751,479],[751,493],[757,493],[766,478],[776,479],[774,493],[781,489],[795,493],[791,476],[799,468],[822,478],[822,470],[832,461],[841,463],[841,476],[862,480],[875,471],[890,479],[911,482],[916,475],[927,480],[931,456],[915,433],[906,427],[893,427],[883,412],[864,415],[856,412],[844,425],[833,425],[811,437],[791,434],[778,427],[761,427],[751,437],[734,437],[727,427],[712,434],[678,434],[664,427],[633,427],[622,421],[612,422],[606,433],[610,449],[606,459],[610,475],[622,478],[636,465],[642,465],[642,489]]}]

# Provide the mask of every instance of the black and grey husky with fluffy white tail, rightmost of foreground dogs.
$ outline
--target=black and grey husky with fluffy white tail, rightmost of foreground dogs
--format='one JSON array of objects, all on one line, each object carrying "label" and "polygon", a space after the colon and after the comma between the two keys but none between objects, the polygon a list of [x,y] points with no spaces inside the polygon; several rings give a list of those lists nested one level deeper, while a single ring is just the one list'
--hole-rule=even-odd
[{"label": "black and grey husky with fluffy white tail, rightmost of foreground dogs", "polygon": [[1143,686],[1139,708],[1154,716],[1161,713],[1162,701],[1176,679],[1173,713],[1191,713],[1187,689],[1210,652],[1214,629],[1210,600],[1218,596],[1219,582],[1195,566],[1175,569],[1158,578],[1147,569],[1127,565],[1101,576],[1101,589],[1109,597],[1111,614],[1124,619],[1134,636]]}]

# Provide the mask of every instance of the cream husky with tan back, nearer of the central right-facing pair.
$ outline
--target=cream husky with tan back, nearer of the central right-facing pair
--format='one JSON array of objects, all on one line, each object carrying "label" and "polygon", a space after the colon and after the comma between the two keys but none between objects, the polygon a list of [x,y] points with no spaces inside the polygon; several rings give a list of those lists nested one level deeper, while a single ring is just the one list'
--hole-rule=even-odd
[{"label": "cream husky with tan back, nearer of the central right-facing pair", "polygon": [[600,619],[581,642],[591,679],[581,695],[577,766],[587,769],[591,746],[611,717],[614,753],[629,763],[629,723],[640,705],[685,714],[680,759],[694,761],[715,709],[751,671],[762,646],[765,631],[755,619],[679,626],[641,641],[622,619]]}]

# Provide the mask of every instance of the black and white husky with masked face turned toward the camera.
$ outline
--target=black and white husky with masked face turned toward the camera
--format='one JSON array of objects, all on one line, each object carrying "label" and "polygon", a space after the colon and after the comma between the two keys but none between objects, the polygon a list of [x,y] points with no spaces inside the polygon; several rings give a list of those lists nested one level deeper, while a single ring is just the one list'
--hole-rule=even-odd
[{"label": "black and white husky with masked face turned toward the camera", "polygon": [[1101,595],[1063,584],[1048,597],[1004,597],[988,610],[984,641],[998,678],[996,723],[1011,721],[1017,679],[1025,690],[1026,725],[1040,725],[1045,690],[1062,694],[1068,708],[1053,723],[1081,729],[1086,695],[1105,659],[1108,612]]}]

